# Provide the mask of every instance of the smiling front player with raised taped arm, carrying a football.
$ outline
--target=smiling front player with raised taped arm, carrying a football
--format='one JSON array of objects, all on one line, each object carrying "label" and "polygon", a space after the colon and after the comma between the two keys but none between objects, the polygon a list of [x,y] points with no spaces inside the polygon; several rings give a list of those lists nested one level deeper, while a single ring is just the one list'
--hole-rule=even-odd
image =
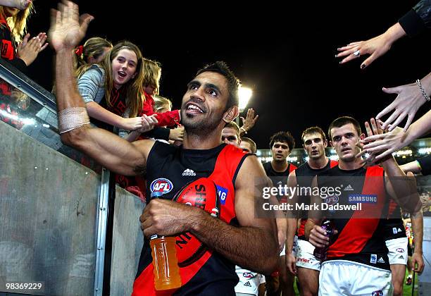
[{"label": "smiling front player with raised taped arm, carrying a football", "polygon": [[[168,186],[163,186],[163,198],[151,200],[139,218],[145,237],[188,231],[209,247],[197,261],[180,268],[182,287],[177,294],[233,295],[235,264],[262,273],[275,269],[275,221],[254,218],[256,192],[260,196],[269,185],[262,166],[256,156],[220,141],[225,124],[238,115],[239,80],[232,71],[225,63],[216,62],[199,70],[187,85],[181,108],[185,126],[182,147],[152,140],[127,142],[107,130],[89,127],[85,103],[74,80],[72,49],[84,37],[92,17],[79,18],[77,5],[70,1],[64,0],[59,8],[61,11],[51,12],[49,37],[56,51],[61,139],[115,173],[146,171],[149,184],[170,180],[164,181]],[[171,200],[177,188],[198,178],[208,178],[226,193],[220,203],[220,219]],[[151,186],[148,188],[150,192]],[[132,295],[156,295],[151,261],[149,240],[144,240]]]}]

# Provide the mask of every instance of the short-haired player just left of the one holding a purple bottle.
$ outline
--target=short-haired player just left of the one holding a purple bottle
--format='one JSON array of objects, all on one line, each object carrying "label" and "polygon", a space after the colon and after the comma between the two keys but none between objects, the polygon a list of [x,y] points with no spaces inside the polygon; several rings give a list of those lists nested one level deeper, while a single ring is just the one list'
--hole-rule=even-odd
[{"label": "short-haired player just left of the one holding a purple bottle", "polygon": [[[325,132],[318,126],[307,128],[302,132],[302,146],[308,156],[306,163],[296,168],[289,174],[289,187],[311,187],[313,177],[324,171],[337,166],[337,161],[332,161],[325,155],[327,140]],[[293,204],[310,204],[308,195],[294,195]],[[287,268],[293,274],[297,274],[301,295],[318,295],[320,261],[313,255],[314,246],[305,238],[304,227],[307,221],[307,213],[299,213],[301,226],[296,232],[297,218],[288,218],[286,238],[286,261]],[[296,259],[294,257],[295,233],[298,236],[298,250]],[[297,269],[296,269],[297,267]]]}]

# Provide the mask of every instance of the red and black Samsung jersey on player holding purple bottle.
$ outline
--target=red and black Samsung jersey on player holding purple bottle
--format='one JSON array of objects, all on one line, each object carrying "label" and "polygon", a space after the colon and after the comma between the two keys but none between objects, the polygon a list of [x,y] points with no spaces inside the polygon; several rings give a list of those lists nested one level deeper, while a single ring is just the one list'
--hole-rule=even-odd
[{"label": "red and black Samsung jersey on player holding purple bottle", "polygon": [[[349,218],[339,218],[335,211],[325,213],[338,230],[327,250],[327,260],[355,261],[390,270],[384,240],[388,208],[384,173],[380,166],[349,171],[335,166],[318,176],[319,187],[342,187],[341,195],[330,199],[335,204],[349,204],[358,198],[367,200],[361,203],[361,210],[344,212]],[[370,212],[374,218],[370,218]]]}]

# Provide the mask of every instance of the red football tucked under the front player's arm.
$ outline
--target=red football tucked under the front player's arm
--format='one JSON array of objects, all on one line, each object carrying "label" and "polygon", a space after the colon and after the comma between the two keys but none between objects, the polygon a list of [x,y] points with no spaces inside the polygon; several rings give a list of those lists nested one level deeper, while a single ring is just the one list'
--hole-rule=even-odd
[{"label": "red football tucked under the front player's arm", "polygon": [[[220,198],[212,180],[200,178],[182,187],[174,197],[175,202],[196,206],[213,217],[220,216]],[[181,233],[177,239],[178,266],[184,267],[199,259],[206,251],[206,246],[192,233]]]}]

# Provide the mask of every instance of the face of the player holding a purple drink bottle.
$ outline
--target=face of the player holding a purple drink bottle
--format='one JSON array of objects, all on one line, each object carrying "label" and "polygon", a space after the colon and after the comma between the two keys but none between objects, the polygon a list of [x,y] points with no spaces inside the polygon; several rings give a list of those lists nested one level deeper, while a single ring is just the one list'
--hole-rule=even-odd
[{"label": "face of the player holding a purple drink bottle", "polygon": [[361,137],[354,125],[349,123],[340,128],[332,128],[331,137],[332,147],[337,152],[339,159],[346,162],[355,161],[356,154],[361,152],[361,149],[356,146]]}]

